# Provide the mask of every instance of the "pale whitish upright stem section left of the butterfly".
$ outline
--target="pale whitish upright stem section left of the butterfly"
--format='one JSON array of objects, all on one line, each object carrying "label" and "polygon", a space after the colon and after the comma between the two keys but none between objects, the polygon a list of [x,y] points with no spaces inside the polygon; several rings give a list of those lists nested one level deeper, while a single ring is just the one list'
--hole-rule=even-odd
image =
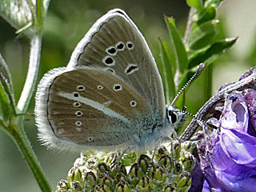
[{"label": "pale whitish upright stem section left of the butterfly", "polygon": [[42,32],[34,35],[31,40],[30,47],[30,64],[29,70],[26,75],[26,82],[22,90],[22,95],[19,98],[17,110],[18,113],[25,113],[28,106],[30,105],[30,99],[34,93],[36,86],[40,57],[41,57],[41,44],[42,44]]}]

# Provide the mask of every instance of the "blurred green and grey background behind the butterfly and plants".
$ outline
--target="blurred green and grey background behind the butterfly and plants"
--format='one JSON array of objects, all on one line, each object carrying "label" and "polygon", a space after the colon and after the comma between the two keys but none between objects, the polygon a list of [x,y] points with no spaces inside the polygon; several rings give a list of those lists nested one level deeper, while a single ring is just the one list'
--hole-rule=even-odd
[{"label": "blurred green and grey background behind the butterfly and plants", "polygon": [[[39,79],[50,69],[66,66],[74,47],[90,26],[102,14],[117,7],[125,10],[137,24],[146,37],[157,62],[160,62],[158,37],[170,43],[163,15],[174,17],[178,29],[183,34],[189,11],[185,0],[54,0],[50,3],[45,22]],[[245,70],[250,66],[255,66],[255,10],[256,2],[254,0],[226,0],[218,10],[218,18],[222,22],[220,25],[221,35],[225,34],[225,37],[239,36],[239,38],[235,46],[214,63],[213,94],[219,86],[238,80]],[[14,80],[15,98],[18,101],[26,79],[29,44],[25,37],[16,36],[14,32],[15,30],[1,18],[0,52],[6,59],[7,65],[10,66]],[[200,92],[203,75],[202,73],[186,93],[186,106],[192,113],[196,113],[204,102],[202,101],[203,93]],[[29,112],[34,113],[34,99],[30,104]],[[37,141],[37,128],[32,117],[26,117],[25,129],[45,170],[46,177],[55,189],[57,182],[66,178],[68,170],[79,154],[49,151],[46,150],[46,147],[40,146]],[[14,142],[2,130],[0,130],[0,190],[39,191],[37,182]]]}]

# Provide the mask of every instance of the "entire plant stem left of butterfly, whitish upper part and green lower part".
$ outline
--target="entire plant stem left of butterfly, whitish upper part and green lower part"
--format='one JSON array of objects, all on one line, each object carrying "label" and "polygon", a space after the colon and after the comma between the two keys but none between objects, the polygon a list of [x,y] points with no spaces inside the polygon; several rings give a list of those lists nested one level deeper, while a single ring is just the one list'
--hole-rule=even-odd
[{"label": "entire plant stem left of butterfly, whitish upper part and green lower part", "polygon": [[[30,39],[31,47],[30,47],[30,63],[29,70],[26,75],[26,82],[22,90],[22,95],[18,101],[18,114],[26,113],[28,106],[30,105],[30,99],[34,93],[34,89],[36,86],[40,57],[41,57],[41,45],[42,45],[42,32],[34,35]],[[38,158],[36,154],[34,154],[34,150],[30,146],[29,139],[26,137],[25,130],[23,128],[23,116],[16,117],[14,121],[10,122],[10,127],[7,129],[11,138],[14,139],[14,142],[18,146],[22,156],[25,158],[30,170],[34,174],[34,178],[36,178],[38,185],[40,186],[43,192],[49,192],[50,185],[46,181],[46,176],[42,171],[42,167],[38,162]]]}]

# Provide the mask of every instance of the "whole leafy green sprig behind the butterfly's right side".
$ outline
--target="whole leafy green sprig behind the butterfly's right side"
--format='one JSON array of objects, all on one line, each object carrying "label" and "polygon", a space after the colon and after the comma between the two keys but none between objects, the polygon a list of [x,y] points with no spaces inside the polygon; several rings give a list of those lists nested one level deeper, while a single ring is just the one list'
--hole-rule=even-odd
[{"label": "whole leafy green sprig behind the butterfly's right side", "polygon": [[[166,73],[161,72],[164,87],[166,90],[166,100],[170,103],[174,95],[181,90],[182,86],[192,77],[200,63],[213,62],[215,58],[234,45],[237,38],[218,39],[218,19],[216,18],[216,8],[222,1],[187,0],[190,10],[190,18],[187,22],[186,34],[182,38],[178,34],[178,29],[173,18],[166,17],[166,26],[170,34],[171,49],[163,41],[160,41],[160,56],[162,64],[160,70],[170,69],[167,74],[172,74],[170,80],[166,78]],[[174,53],[169,51],[174,50]],[[170,55],[175,59],[171,59]],[[171,71],[171,72],[170,72]],[[209,76],[211,77],[211,76]],[[211,82],[211,79],[209,79]],[[208,83],[207,81],[205,83]],[[172,90],[172,92],[170,91]],[[175,90],[175,91],[174,91]],[[210,91],[210,89],[208,89]],[[206,94],[209,97],[210,94]],[[182,108],[185,103],[183,97],[175,103],[178,108]]]}]

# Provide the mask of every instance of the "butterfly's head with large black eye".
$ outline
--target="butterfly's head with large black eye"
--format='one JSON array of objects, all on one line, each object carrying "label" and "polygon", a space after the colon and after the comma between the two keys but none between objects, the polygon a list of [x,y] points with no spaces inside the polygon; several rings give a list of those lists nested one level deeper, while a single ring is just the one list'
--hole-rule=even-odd
[{"label": "butterfly's head with large black eye", "polygon": [[166,118],[175,129],[185,121],[186,112],[174,106],[166,106]]}]

